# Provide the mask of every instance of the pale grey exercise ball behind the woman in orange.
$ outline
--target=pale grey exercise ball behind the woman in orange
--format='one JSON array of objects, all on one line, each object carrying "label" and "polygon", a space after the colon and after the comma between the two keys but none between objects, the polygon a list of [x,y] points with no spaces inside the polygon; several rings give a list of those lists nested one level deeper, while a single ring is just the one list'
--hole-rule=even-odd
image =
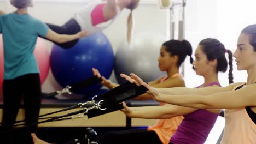
[{"label": "pale grey exercise ball behind the woman in orange", "polygon": [[165,75],[158,68],[160,47],[165,41],[164,35],[157,32],[139,32],[132,36],[130,44],[124,41],[115,55],[114,71],[118,83],[125,82],[121,73],[135,73],[146,82]]}]

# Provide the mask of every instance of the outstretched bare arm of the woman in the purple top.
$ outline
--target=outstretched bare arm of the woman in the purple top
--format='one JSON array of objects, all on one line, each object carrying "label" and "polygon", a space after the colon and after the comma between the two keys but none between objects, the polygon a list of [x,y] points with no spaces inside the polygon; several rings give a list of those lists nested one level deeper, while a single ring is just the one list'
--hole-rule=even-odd
[{"label": "outstretched bare arm of the woman in the purple top", "polygon": [[141,106],[127,107],[123,103],[124,109],[121,110],[126,116],[131,118],[161,119],[182,116],[191,113],[197,109],[166,104],[164,106]]}]

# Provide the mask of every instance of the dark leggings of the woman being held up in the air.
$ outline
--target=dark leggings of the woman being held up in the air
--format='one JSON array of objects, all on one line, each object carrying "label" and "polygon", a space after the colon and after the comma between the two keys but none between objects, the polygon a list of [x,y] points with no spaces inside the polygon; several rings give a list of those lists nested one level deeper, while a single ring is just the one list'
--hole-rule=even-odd
[{"label": "dark leggings of the woman being held up in the air", "polygon": [[[56,26],[50,23],[46,23],[46,25],[48,25],[51,30],[59,34],[76,34],[81,31],[81,27],[78,25],[75,19],[70,19],[63,26]],[[52,42],[55,43],[54,41]],[[62,48],[69,49],[73,47],[75,44],[77,44],[77,42],[78,42],[78,39],[69,41],[67,43],[62,43],[62,44],[55,43],[55,44],[59,45]]]}]

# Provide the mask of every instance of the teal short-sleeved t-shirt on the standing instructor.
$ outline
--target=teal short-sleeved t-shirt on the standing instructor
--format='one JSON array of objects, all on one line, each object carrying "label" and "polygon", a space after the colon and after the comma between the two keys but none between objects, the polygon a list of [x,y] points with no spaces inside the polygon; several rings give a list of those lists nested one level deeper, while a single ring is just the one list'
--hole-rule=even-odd
[{"label": "teal short-sleeved t-shirt on the standing instructor", "polygon": [[28,14],[0,16],[0,33],[4,44],[4,80],[39,73],[34,48],[37,37],[45,37],[49,27]]}]

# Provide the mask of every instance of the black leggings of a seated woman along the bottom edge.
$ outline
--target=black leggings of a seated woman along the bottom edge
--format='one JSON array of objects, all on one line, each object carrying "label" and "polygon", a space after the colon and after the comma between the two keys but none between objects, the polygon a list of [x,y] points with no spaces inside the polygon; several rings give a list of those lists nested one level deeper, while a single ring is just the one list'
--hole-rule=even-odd
[{"label": "black leggings of a seated woman along the bottom edge", "polygon": [[[103,135],[97,135],[96,142],[98,144],[162,144],[161,140],[159,139],[155,131],[148,131],[147,129],[108,131]],[[79,141],[79,143],[86,144],[87,141]]]}]

